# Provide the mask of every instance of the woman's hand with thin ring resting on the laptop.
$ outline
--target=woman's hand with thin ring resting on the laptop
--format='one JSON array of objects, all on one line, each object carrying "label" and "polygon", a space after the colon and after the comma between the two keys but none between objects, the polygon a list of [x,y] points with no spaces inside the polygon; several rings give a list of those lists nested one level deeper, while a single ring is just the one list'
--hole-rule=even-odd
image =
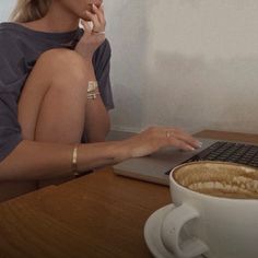
[{"label": "woman's hand with thin ring resting on the laptop", "polygon": [[122,144],[122,150],[125,150],[122,155],[126,157],[145,156],[167,146],[176,146],[186,151],[194,151],[201,146],[201,143],[190,134],[169,127],[149,128],[125,140]]}]

